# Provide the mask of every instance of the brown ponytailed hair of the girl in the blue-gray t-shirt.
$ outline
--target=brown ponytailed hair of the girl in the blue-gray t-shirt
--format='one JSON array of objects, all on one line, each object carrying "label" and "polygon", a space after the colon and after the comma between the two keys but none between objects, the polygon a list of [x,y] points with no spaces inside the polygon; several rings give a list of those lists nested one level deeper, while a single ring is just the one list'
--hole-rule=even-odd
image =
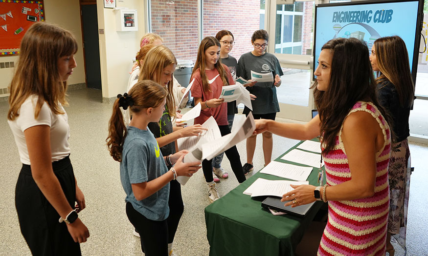
[{"label": "brown ponytailed hair of the girl in the blue-gray t-shirt", "polygon": [[[160,84],[151,80],[138,81],[129,91],[133,103],[129,107],[131,113],[138,113],[143,109],[158,107],[168,92]],[[109,137],[107,137],[107,148],[114,160],[122,161],[123,143],[126,138],[126,126],[123,121],[122,111],[117,98],[113,104],[113,114],[109,121]]]}]

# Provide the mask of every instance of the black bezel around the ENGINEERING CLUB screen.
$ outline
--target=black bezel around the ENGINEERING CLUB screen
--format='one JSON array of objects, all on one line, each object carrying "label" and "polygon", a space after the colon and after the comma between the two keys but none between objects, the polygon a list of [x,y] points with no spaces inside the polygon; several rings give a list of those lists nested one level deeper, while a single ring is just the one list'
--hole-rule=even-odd
[{"label": "black bezel around the ENGINEERING CLUB screen", "polygon": [[[367,1],[351,1],[351,2],[338,2],[338,3],[319,3],[315,4],[315,16],[314,16],[314,51],[313,51],[313,66],[312,70],[315,72],[315,64],[317,59],[315,59],[315,45],[316,45],[316,12],[320,7],[332,7],[332,6],[346,6],[346,5],[363,5],[363,4],[376,4],[376,3],[394,3],[394,2],[415,2],[415,0],[367,0]],[[418,0],[418,12],[416,18],[416,27],[415,27],[415,45],[413,46],[413,60],[411,66],[411,74],[413,78],[413,83],[416,84],[416,73],[418,70],[418,58],[419,58],[419,44],[421,41],[421,32],[423,25],[423,13],[424,13],[424,0]],[[312,80],[316,81],[314,73],[312,73]]]}]

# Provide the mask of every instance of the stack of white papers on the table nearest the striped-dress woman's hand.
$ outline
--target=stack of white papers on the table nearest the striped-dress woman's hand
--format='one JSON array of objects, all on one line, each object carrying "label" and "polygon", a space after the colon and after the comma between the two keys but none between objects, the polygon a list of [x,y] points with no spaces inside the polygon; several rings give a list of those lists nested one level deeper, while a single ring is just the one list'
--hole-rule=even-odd
[{"label": "stack of white papers on the table nearest the striped-dress woman's hand", "polygon": [[304,184],[309,184],[309,181],[269,180],[258,178],[248,187],[248,189],[244,191],[244,194],[250,195],[251,197],[282,197],[285,193],[293,190],[290,185]]}]

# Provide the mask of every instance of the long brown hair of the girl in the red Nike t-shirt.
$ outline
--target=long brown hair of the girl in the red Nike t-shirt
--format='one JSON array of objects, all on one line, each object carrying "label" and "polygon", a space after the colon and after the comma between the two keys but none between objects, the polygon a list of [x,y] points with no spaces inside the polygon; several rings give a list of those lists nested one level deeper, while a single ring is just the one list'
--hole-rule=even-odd
[{"label": "long brown hair of the girl in the red Nike t-shirt", "polygon": [[[218,47],[221,47],[219,40],[217,40],[214,37],[206,37],[202,39],[201,44],[199,45],[198,49],[198,56],[196,58],[195,67],[192,71],[193,73],[199,68],[199,73],[201,74],[201,80],[202,80],[202,89],[205,93],[210,92],[211,89],[209,87],[208,78],[205,74],[205,66],[206,66],[206,58],[205,58],[205,51],[211,47],[217,45]],[[227,73],[225,71],[225,67],[222,64],[221,58],[217,60],[217,63],[215,63],[214,68],[217,69],[217,71],[220,74],[220,77],[222,78],[223,85],[229,85],[229,80],[227,79]]]}]

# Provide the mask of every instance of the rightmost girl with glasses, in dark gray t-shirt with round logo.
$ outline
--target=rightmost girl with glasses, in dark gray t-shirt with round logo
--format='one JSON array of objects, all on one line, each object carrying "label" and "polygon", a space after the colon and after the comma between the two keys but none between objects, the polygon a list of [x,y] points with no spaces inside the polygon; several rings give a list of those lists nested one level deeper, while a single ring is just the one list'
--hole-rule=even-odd
[{"label": "rightmost girl with glasses, in dark gray t-shirt with round logo", "polygon": [[[243,54],[238,61],[238,77],[251,79],[251,71],[257,73],[272,73],[273,82],[255,82],[248,84],[247,90],[257,96],[251,101],[252,114],[254,119],[275,120],[276,113],[279,112],[278,98],[276,97],[276,87],[281,85],[280,76],[283,75],[278,59],[273,54],[267,53],[266,48],[269,41],[269,35],[266,30],[256,30],[251,37],[251,44],[254,49]],[[249,108],[244,108],[244,114],[248,115]],[[263,134],[263,156],[265,166],[270,163],[272,157],[272,133],[269,131]],[[247,175],[253,170],[253,157],[256,148],[257,135],[247,138],[247,163],[243,166],[244,173]]]}]

